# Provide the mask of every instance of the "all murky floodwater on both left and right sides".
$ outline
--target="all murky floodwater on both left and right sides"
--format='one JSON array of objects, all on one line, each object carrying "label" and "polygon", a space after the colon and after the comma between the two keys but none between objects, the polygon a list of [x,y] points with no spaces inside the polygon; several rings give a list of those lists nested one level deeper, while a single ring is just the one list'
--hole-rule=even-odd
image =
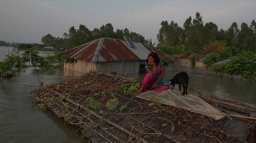
[{"label": "all murky floodwater on both left and right sides", "polygon": [[[41,52],[41,55],[48,54]],[[178,71],[187,71],[189,88],[256,107],[256,82],[220,77],[211,71],[206,73],[203,67],[191,67],[189,64],[176,63],[174,69],[166,73],[166,79],[171,79]],[[42,73],[28,68],[12,79],[0,79],[0,142],[86,142],[80,139],[73,125],[67,125],[51,111],[43,111],[33,105],[29,93],[39,87],[38,81],[52,84],[72,79],[71,73],[64,74],[60,69]],[[136,76],[141,79],[144,74]]]}]

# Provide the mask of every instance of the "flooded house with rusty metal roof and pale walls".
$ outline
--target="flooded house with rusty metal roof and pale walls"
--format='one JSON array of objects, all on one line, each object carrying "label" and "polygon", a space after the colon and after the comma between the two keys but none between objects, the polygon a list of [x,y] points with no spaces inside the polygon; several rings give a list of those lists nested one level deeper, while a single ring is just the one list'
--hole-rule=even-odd
[{"label": "flooded house with rusty metal roof and pale walls", "polygon": [[115,38],[99,38],[84,45],[63,52],[75,62],[64,64],[64,69],[86,73],[88,71],[104,71],[107,73],[132,74],[144,71],[146,59],[150,52],[159,57],[169,57],[166,71],[173,71],[176,59],[166,55],[144,43],[132,42],[129,37],[124,40]]}]

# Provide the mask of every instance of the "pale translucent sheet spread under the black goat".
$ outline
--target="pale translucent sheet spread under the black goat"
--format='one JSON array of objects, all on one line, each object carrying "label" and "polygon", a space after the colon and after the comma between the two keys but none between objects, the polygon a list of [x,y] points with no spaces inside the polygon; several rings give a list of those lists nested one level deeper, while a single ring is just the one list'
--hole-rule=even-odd
[{"label": "pale translucent sheet spread under the black goat", "polygon": [[215,120],[220,120],[225,117],[220,110],[213,107],[213,105],[210,105],[206,101],[203,101],[203,99],[198,96],[194,96],[191,93],[184,96],[181,96],[181,94],[181,91],[167,89],[165,91],[146,91],[140,93],[137,97],[148,101],[171,105],[177,108],[183,108],[184,110],[203,114]]}]

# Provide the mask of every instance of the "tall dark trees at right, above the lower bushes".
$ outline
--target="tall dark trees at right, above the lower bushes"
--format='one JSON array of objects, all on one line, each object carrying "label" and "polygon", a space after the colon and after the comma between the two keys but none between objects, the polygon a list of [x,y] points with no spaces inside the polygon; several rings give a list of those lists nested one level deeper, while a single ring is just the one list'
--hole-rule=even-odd
[{"label": "tall dark trees at right, above the lower bushes", "polygon": [[226,42],[228,47],[256,52],[256,22],[252,20],[250,25],[242,23],[240,28],[233,22],[228,30],[218,30],[218,26],[213,22],[204,24],[201,14],[197,12],[195,18],[189,16],[186,19],[183,27],[174,21],[162,21],[157,39],[160,46],[178,45],[191,52],[200,52],[204,45],[216,40]]}]

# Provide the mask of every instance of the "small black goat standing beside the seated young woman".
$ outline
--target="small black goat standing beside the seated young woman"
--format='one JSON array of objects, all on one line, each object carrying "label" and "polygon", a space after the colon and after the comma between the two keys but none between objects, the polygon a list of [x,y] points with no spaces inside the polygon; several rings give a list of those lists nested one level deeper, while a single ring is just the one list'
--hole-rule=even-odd
[{"label": "small black goat standing beside the seated young woman", "polygon": [[174,79],[170,79],[171,85],[173,86],[171,89],[174,89],[175,84],[178,84],[178,88],[181,91],[181,84],[183,87],[183,93],[182,95],[185,95],[188,93],[188,74],[185,71],[181,71],[180,73],[176,74],[174,76]]}]

